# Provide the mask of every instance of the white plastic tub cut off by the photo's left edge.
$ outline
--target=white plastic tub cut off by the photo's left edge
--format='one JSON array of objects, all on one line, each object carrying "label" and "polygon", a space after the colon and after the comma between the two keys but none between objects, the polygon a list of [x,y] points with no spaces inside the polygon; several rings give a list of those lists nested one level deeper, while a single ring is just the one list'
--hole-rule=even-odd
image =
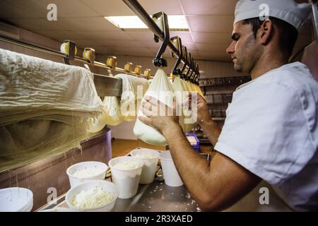
[{"label": "white plastic tub cut off by the photo's left edge", "polygon": [[30,189],[0,189],[0,212],[30,212],[32,208],[33,192]]}]

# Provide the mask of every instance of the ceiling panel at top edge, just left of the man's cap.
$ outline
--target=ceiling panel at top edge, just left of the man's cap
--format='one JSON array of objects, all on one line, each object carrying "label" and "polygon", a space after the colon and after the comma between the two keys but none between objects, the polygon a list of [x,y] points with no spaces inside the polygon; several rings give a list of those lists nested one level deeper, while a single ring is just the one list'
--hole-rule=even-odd
[{"label": "ceiling panel at top edge, just left of the man's cap", "polygon": [[235,0],[180,0],[186,15],[232,15]]}]

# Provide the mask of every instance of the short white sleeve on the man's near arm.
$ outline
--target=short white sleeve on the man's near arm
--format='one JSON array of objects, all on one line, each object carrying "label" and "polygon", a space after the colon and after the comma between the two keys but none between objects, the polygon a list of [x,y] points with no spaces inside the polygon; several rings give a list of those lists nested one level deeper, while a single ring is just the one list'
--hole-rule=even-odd
[{"label": "short white sleeve on the man's near arm", "polygon": [[283,183],[316,151],[304,101],[280,83],[235,91],[215,149],[270,184]]}]

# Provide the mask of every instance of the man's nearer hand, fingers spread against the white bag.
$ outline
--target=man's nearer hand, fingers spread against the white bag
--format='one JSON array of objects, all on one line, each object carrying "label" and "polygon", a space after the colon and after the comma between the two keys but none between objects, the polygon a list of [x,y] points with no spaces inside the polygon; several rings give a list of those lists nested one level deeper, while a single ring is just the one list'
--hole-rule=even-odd
[{"label": "man's nearer hand, fingers spread against the white bag", "polygon": [[155,97],[146,96],[141,102],[141,111],[146,117],[138,117],[144,124],[155,127],[160,133],[165,133],[174,126],[179,126],[179,118],[176,116],[175,102],[173,107],[168,107]]}]

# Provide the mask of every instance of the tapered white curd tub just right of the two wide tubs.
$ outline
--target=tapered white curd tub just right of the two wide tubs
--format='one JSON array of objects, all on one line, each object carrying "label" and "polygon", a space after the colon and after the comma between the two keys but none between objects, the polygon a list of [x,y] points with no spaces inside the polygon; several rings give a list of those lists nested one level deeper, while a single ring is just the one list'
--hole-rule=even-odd
[{"label": "tapered white curd tub just right of the two wide tubs", "polygon": [[[119,169],[116,165],[131,162],[136,167],[131,169]],[[112,182],[116,184],[119,189],[118,198],[131,198],[136,195],[143,169],[143,161],[136,157],[122,156],[114,157],[110,162],[110,170],[112,172]]]}]

